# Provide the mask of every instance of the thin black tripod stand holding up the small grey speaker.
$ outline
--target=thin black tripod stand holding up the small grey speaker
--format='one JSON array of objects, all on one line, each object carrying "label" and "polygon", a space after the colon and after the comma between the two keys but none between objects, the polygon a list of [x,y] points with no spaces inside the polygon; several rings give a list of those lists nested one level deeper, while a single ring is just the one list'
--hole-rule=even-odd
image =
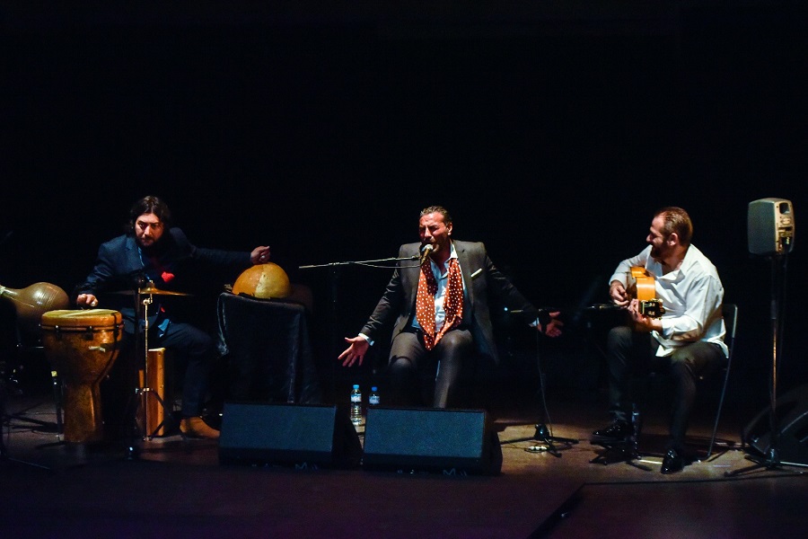
[{"label": "thin black tripod stand holding up the small grey speaker", "polygon": [[779,437],[779,421],[777,420],[777,366],[779,363],[780,353],[782,352],[782,345],[777,346],[782,341],[783,333],[780,325],[780,314],[782,311],[782,298],[785,297],[786,288],[786,260],[787,254],[775,254],[770,257],[771,260],[771,371],[768,375],[768,427],[771,432],[769,437],[768,448],[763,456],[746,455],[746,460],[755,464],[746,466],[733,472],[725,472],[725,477],[734,477],[742,473],[748,473],[755,470],[777,470],[782,472],[795,473],[802,475],[803,472],[795,470],[786,470],[780,461],[778,440]]}]

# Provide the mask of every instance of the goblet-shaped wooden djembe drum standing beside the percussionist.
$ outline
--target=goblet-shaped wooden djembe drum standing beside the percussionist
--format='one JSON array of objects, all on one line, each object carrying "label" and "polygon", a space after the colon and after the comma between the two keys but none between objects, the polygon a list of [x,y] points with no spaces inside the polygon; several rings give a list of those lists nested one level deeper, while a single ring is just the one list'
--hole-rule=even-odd
[{"label": "goblet-shaped wooden djembe drum standing beside the percussionist", "polygon": [[57,310],[42,314],[42,345],[65,388],[65,441],[103,438],[101,380],[119,354],[123,322],[109,309]]}]

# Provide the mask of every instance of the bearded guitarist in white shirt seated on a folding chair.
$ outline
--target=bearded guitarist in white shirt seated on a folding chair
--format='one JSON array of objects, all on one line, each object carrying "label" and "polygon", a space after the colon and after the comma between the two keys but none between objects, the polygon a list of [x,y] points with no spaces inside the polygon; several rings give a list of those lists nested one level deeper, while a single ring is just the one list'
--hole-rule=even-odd
[{"label": "bearded guitarist in white shirt seated on a folding chair", "polygon": [[[693,224],[684,209],[660,209],[646,237],[648,246],[621,261],[610,278],[610,299],[627,310],[629,323],[609,331],[612,423],[595,430],[593,441],[628,437],[634,431],[632,408],[641,404],[632,392],[632,380],[638,375],[646,379],[643,375],[652,370],[666,372],[675,391],[662,473],[679,472],[689,464],[684,438],[696,380],[725,365],[727,358],[721,316],[724,287],[713,263],[690,243],[692,234]],[[651,308],[648,301],[631,294],[632,269],[644,269],[654,279]]]}]

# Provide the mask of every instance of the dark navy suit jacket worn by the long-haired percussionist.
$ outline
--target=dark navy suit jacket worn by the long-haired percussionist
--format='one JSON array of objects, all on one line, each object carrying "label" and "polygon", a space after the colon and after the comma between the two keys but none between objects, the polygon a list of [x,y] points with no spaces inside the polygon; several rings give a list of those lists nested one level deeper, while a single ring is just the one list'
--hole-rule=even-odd
[{"label": "dark navy suit jacket worn by the long-haired percussionist", "polygon": [[[104,296],[107,292],[135,290],[138,286],[138,278],[149,271],[152,273],[151,277],[155,287],[178,291],[181,290],[183,283],[189,283],[191,273],[210,269],[240,272],[251,265],[250,252],[197,247],[190,243],[185,233],[177,227],[167,230],[160,241],[162,245],[158,257],[159,265],[171,272],[174,278],[166,281],[160,275],[159,270],[155,272],[151,265],[144,267],[135,236],[124,234],[101,244],[95,266],[83,284],[76,288],[76,294],[91,293],[95,296]],[[236,273],[236,275],[238,274]],[[154,299],[156,301],[160,297]],[[132,296],[105,296],[103,308],[120,311],[124,319],[125,331],[131,333],[135,329],[135,303]],[[149,323],[154,324],[156,317],[155,308],[149,316]]]}]

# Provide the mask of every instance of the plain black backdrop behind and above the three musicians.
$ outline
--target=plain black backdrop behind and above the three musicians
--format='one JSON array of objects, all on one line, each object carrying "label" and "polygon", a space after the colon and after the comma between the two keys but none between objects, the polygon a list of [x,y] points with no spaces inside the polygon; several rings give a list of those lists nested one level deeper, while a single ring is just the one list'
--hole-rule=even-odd
[{"label": "plain black backdrop behind and above the three musicians", "polygon": [[[565,312],[540,346],[550,383],[578,387],[555,351],[580,346],[582,308],[678,205],[740,305],[740,368],[765,402],[771,263],[748,252],[747,210],[808,208],[799,3],[271,4],[0,8],[0,284],[70,292],[156,194],[199,246],[270,244],[315,292],[324,378],[345,376],[334,351],[391,271],[339,266],[332,288],[298,266],[392,257],[442,204],[455,237]],[[805,264],[797,239],[786,388],[806,380]],[[498,331],[531,354],[527,330]]]}]

